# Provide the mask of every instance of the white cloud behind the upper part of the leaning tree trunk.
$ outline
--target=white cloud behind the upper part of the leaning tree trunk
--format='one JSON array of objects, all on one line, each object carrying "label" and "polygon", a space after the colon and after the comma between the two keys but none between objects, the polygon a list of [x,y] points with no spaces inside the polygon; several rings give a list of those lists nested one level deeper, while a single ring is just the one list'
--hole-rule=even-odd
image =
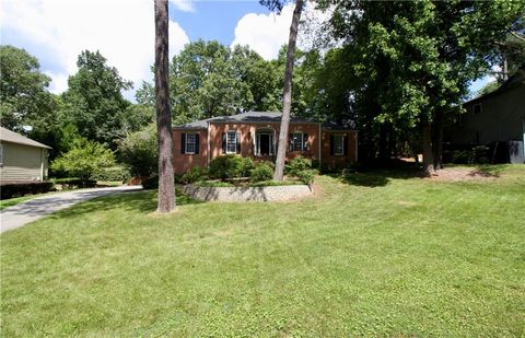
[{"label": "white cloud behind the upper part of the leaning tree trunk", "polygon": [[[248,45],[267,60],[277,58],[281,46],[288,44],[294,7],[294,3],[284,5],[279,15],[276,13],[244,15],[235,26],[232,47]],[[303,50],[315,48],[314,37],[318,35],[323,23],[329,18],[329,11],[323,13],[307,2],[301,14],[298,47]]]}]

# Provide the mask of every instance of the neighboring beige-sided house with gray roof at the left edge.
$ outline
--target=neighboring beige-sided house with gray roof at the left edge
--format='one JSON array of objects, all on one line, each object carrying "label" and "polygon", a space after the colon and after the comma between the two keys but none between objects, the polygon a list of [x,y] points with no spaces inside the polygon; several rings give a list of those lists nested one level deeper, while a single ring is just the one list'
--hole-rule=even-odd
[{"label": "neighboring beige-sided house with gray roof at the left edge", "polygon": [[28,182],[47,178],[46,144],[0,127],[0,182]]}]

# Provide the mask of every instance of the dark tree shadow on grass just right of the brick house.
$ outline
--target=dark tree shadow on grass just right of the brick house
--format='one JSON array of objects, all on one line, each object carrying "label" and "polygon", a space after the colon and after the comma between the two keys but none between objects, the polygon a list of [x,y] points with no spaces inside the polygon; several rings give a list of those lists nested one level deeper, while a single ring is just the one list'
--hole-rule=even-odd
[{"label": "dark tree shadow on grass just right of the brick house", "polygon": [[348,171],[330,175],[349,185],[363,187],[384,187],[392,179],[411,179],[425,177],[417,165],[400,165],[386,168],[369,168],[365,171]]}]

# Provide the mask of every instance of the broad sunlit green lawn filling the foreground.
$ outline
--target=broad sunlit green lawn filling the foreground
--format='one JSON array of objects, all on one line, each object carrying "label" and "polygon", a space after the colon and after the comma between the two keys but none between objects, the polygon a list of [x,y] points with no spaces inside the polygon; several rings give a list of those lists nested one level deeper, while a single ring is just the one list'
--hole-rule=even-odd
[{"label": "broad sunlit green lawn filling the foreground", "polygon": [[1,335],[525,335],[525,166],[316,178],[294,202],[104,197],[1,235]]}]

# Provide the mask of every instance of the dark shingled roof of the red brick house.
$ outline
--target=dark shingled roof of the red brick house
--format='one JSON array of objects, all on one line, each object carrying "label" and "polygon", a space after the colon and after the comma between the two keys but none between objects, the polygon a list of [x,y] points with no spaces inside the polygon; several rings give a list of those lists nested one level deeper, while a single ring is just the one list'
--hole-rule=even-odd
[{"label": "dark shingled roof of the red brick house", "polygon": [[[247,112],[242,114],[236,114],[232,116],[218,116],[208,119],[198,120],[195,123],[189,123],[185,125],[175,126],[176,129],[206,129],[208,128],[208,123],[215,124],[254,124],[254,123],[280,123],[282,113],[280,112]],[[319,121],[302,118],[302,117],[291,117],[290,123],[292,124],[319,124]],[[324,128],[334,129],[334,130],[343,130],[349,129],[345,126],[336,123],[324,123]]]}]

